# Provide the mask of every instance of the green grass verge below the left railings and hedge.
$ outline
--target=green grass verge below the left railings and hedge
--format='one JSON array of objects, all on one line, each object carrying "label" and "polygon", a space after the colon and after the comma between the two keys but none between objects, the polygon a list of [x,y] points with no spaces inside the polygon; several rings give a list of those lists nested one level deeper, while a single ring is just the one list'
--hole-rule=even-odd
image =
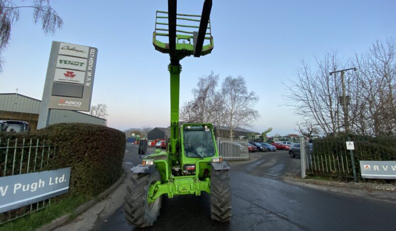
[{"label": "green grass verge below the left railings and hedge", "polygon": [[48,207],[0,226],[0,231],[33,231],[53,220],[73,212],[91,197],[68,196]]}]

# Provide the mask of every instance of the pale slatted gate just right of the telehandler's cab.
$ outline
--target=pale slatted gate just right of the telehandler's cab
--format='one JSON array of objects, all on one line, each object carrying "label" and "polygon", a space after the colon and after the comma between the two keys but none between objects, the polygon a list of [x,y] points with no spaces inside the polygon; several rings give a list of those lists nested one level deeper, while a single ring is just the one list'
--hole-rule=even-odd
[{"label": "pale slatted gate just right of the telehandler's cab", "polygon": [[217,149],[224,160],[249,160],[246,139],[217,137]]}]

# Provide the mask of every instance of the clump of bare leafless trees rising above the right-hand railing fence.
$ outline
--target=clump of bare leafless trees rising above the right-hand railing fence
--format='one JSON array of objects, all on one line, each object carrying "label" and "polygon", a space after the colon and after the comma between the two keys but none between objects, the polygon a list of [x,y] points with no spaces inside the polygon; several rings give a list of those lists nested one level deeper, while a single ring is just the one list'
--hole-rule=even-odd
[{"label": "clump of bare leafless trees rising above the right-hand railing fence", "polygon": [[[312,126],[329,135],[343,133],[348,127],[355,134],[396,136],[395,54],[394,41],[388,40],[372,44],[367,53],[355,54],[343,64],[336,52],[317,58],[314,71],[303,61],[284,95],[286,105],[306,121],[298,124],[298,130],[310,133]],[[340,76],[329,72],[346,66],[357,67],[357,71],[344,75],[346,107],[342,110]]]}]

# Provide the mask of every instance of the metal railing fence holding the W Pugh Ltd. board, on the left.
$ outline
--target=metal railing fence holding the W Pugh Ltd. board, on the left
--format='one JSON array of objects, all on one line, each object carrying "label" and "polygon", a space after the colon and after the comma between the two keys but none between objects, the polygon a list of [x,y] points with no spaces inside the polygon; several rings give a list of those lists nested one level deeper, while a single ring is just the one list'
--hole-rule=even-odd
[{"label": "metal railing fence holding the W Pugh Ltd. board, on the left", "polygon": [[[45,139],[0,138],[0,177],[44,171],[56,154],[57,148],[47,145]],[[50,204],[51,199],[47,199],[0,213],[0,224],[43,209]]]}]

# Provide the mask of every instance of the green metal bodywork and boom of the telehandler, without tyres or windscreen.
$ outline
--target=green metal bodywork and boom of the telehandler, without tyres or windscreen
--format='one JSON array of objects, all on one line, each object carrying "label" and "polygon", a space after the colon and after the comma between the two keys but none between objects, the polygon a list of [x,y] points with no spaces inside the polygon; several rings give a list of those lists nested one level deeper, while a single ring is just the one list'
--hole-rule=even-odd
[{"label": "green metal bodywork and boom of the telehandler, without tyres or windscreen", "polygon": [[[211,5],[210,5],[211,7]],[[161,182],[157,181],[151,184],[148,190],[148,202],[154,202],[156,198],[163,194],[167,194],[168,197],[173,197],[176,195],[186,195],[195,194],[200,195],[201,191],[210,193],[210,170],[211,170],[211,160],[213,157],[218,157],[218,150],[216,147],[213,127],[212,124],[206,123],[195,123],[195,124],[183,124],[179,127],[179,91],[180,91],[180,73],[182,71],[182,66],[179,61],[185,57],[194,55],[196,57],[204,56],[209,54],[213,49],[213,37],[210,32],[210,20],[208,20],[208,14],[206,14],[206,19],[208,26],[206,26],[206,32],[203,31],[188,31],[190,29],[197,30],[200,25],[187,25],[187,24],[177,24],[176,28],[173,28],[173,33],[175,35],[175,49],[170,49],[170,43],[161,42],[159,37],[171,38],[172,32],[170,32],[171,26],[167,22],[161,22],[161,20],[166,20],[169,17],[173,19],[187,22],[187,23],[200,23],[201,15],[193,14],[174,14],[166,11],[157,11],[155,20],[155,31],[153,32],[153,45],[155,50],[169,54],[171,63],[168,65],[168,71],[170,73],[170,140],[168,143],[168,151],[160,152],[156,151],[155,154],[148,155],[145,159],[153,159],[156,169],[161,174]],[[206,12],[207,13],[207,12]],[[210,9],[209,9],[210,13]],[[169,16],[169,17],[168,17]],[[205,19],[205,20],[206,20]],[[204,21],[205,21],[204,20]],[[168,21],[168,22],[169,22]],[[203,23],[204,24],[204,23]],[[166,28],[168,26],[168,28]],[[200,29],[205,29],[203,26]],[[209,32],[207,32],[209,31]],[[198,38],[199,37],[199,38]],[[198,39],[197,39],[198,38]],[[202,40],[203,39],[203,40]],[[200,51],[195,51],[196,46],[195,41],[201,41],[199,45],[202,47]],[[203,45],[203,41],[209,41],[208,44]],[[199,43],[199,42],[198,42]],[[202,126],[205,127],[206,132],[210,132],[210,139],[213,140],[211,144],[214,146],[212,150],[214,153],[207,157],[189,157],[186,155],[185,150],[185,140],[184,140],[184,130],[189,129],[188,126]],[[208,130],[207,130],[208,129]],[[207,133],[209,134],[209,133]],[[207,136],[206,136],[207,137]],[[198,155],[198,154],[197,154]],[[195,165],[195,174],[185,174],[174,176],[172,174],[172,166],[177,166],[183,170],[185,165]]]}]

